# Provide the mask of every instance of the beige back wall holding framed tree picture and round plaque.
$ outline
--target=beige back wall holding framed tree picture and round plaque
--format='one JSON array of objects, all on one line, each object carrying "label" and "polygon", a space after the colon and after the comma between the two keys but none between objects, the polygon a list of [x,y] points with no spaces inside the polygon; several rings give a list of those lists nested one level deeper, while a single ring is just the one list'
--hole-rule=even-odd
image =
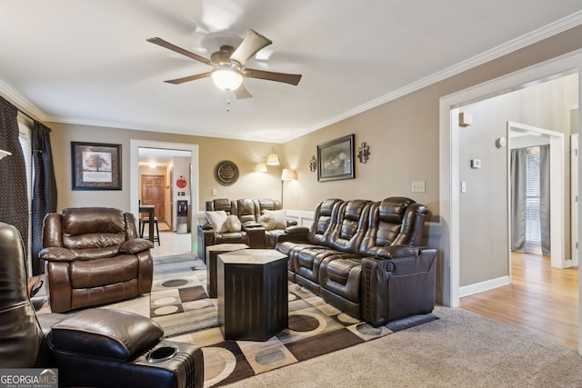
[{"label": "beige back wall holding framed tree picture and round plaque", "polygon": [[[107,206],[129,210],[129,183],[138,177],[129,176],[129,143],[131,139],[159,141],[166,143],[198,144],[199,146],[199,208],[204,209],[205,201],[213,198],[265,197],[278,199],[281,196],[280,172],[269,168],[268,173],[255,173],[256,163],[262,155],[269,154],[277,144],[218,139],[203,136],[162,134],[146,131],[105,128],[76,124],[47,124],[51,133],[51,144],[55,160],[56,184],[58,187],[57,209],[65,207],[106,204]],[[122,190],[116,191],[73,191],[71,185],[71,142],[107,143],[122,145]],[[216,182],[214,168],[222,160],[234,162],[240,170],[240,178],[231,186]],[[211,190],[216,188],[213,197]]]}]

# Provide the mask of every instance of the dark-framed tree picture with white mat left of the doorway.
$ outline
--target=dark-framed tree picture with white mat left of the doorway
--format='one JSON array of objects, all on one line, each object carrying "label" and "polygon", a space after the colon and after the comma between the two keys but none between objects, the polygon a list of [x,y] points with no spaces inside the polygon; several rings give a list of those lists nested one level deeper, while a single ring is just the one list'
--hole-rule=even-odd
[{"label": "dark-framed tree picture with white mat left of the doorway", "polygon": [[71,142],[73,190],[121,190],[121,144]]}]

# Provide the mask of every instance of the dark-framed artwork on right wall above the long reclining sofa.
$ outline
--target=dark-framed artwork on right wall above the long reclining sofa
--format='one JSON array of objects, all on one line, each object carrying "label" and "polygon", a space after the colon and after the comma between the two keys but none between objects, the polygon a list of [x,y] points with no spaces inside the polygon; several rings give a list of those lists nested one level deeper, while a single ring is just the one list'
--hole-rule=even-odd
[{"label": "dark-framed artwork on right wall above the long reclining sofa", "polygon": [[317,145],[317,181],[353,179],[354,134]]}]

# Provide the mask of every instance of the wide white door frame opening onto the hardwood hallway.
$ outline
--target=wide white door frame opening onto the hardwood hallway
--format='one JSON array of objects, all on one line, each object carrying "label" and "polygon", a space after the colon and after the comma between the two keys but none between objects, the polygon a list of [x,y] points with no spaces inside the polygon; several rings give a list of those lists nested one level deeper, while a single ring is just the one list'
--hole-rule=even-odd
[{"label": "wide white door frame opening onto the hardwood hallway", "polygon": [[[561,55],[547,62],[527,67],[515,73],[499,77],[486,83],[472,86],[452,95],[440,98],[439,102],[439,209],[440,224],[444,235],[439,244],[442,254],[443,289],[442,303],[458,307],[459,305],[459,266],[460,266],[460,174],[458,141],[458,107],[485,100],[494,95],[503,95],[532,82],[557,74],[578,72],[582,68],[582,50]],[[582,101],[582,76],[578,77],[578,101]],[[579,113],[578,113],[579,114]],[[578,231],[580,228],[578,228]],[[578,232],[580,233],[580,232]],[[578,249],[580,249],[578,247]],[[578,251],[579,254],[579,251]],[[580,293],[582,276],[579,276],[578,293]],[[579,297],[580,317],[582,322],[582,295]],[[582,324],[579,325],[582,328]],[[579,338],[582,339],[582,330]]]}]

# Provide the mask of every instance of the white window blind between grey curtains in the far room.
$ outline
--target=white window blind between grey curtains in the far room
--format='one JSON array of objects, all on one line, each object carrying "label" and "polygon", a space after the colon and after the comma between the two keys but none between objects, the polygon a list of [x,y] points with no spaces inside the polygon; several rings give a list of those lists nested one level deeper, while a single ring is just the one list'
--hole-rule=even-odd
[{"label": "white window blind between grey curtains in the far room", "polygon": [[539,201],[539,147],[526,152],[526,252],[542,254]]}]

